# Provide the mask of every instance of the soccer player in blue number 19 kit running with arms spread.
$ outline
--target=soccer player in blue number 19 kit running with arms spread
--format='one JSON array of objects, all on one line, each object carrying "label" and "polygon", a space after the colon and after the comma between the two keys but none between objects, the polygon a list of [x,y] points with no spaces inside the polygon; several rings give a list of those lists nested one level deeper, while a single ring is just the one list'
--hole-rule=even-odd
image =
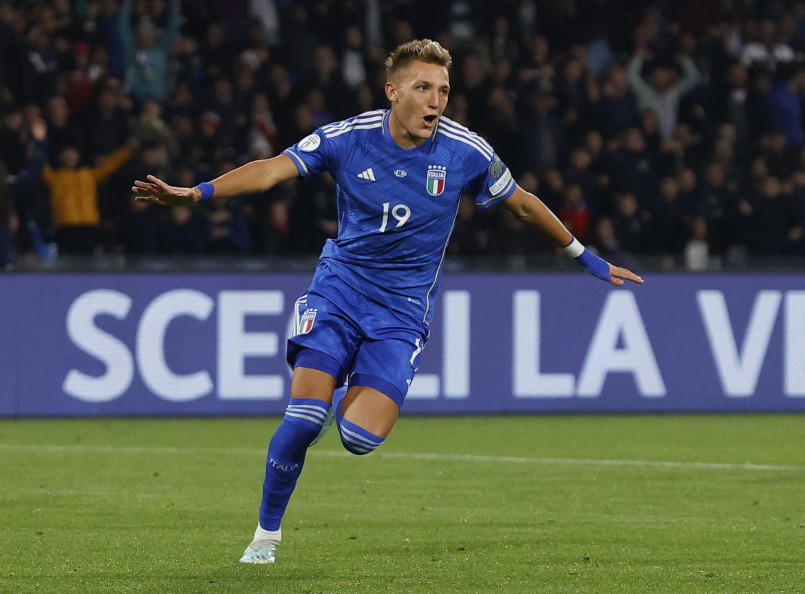
[{"label": "soccer player in blue number 19 kit running with arms spread", "polygon": [[[598,278],[642,283],[586,250],[514,183],[488,142],[442,115],[451,63],[430,39],[404,43],[386,60],[390,109],[321,126],[282,155],[195,188],[174,188],[153,175],[134,183],[136,200],[173,205],[265,192],[318,171],[336,180],[338,237],[324,245],[312,283],[295,303],[296,334],[287,345],[291,399],[270,440],[258,526],[242,563],[275,562],[305,452],[333,417],[344,447],[357,455],[377,449],[394,427],[430,334],[461,192],[472,192],[480,208],[502,203]],[[336,391],[340,386],[347,390]]]}]

